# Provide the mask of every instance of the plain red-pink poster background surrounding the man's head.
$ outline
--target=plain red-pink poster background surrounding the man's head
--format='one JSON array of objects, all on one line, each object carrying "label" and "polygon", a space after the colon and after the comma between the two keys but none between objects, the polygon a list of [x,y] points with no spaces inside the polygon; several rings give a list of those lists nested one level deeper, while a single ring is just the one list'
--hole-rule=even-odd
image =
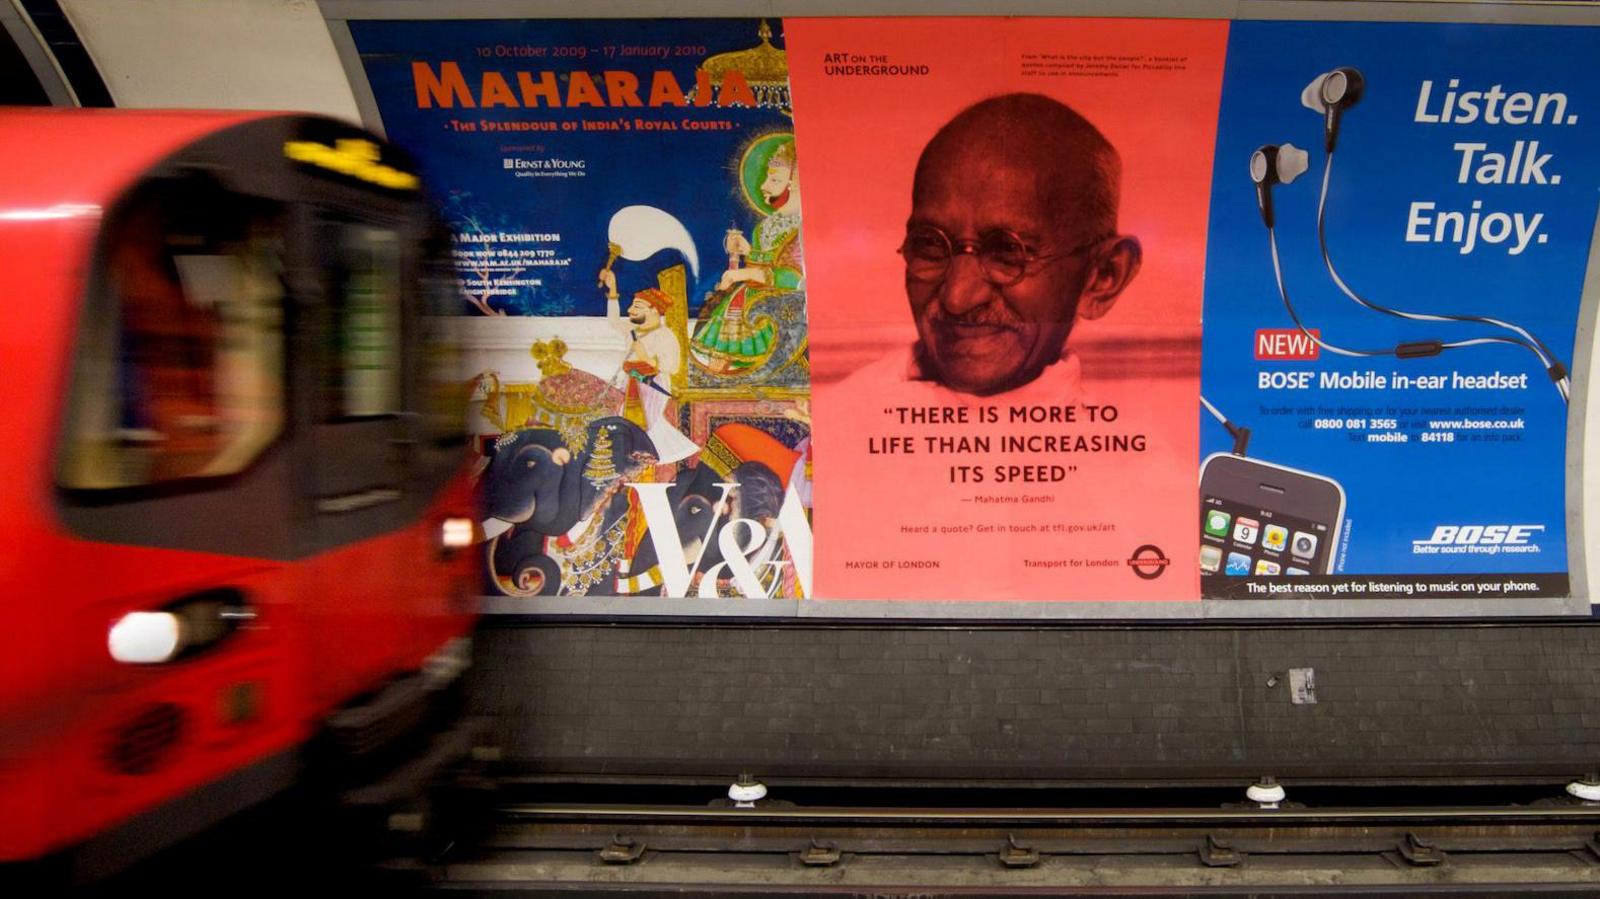
[{"label": "plain red-pink poster background surrounding the man's head", "polygon": [[[1200,296],[1227,22],[786,19],[784,38],[805,189],[816,597],[1197,600]],[[829,74],[837,61],[928,72]],[[1104,318],[1072,331],[1077,422],[1006,424],[1008,406],[1053,403],[1024,387],[934,400],[966,406],[955,413],[966,424],[906,424],[894,411],[904,397],[845,379],[915,339],[896,248],[922,147],[966,106],[1013,91],[1066,102],[1117,147],[1118,229],[1139,238],[1144,266]],[[1086,405],[1112,405],[1118,418],[1090,424]],[[1002,421],[981,424],[984,414]],[[1146,450],[925,451],[926,437],[997,445],[1006,434],[1142,435]],[[910,443],[885,443],[894,437]],[[1066,475],[952,483],[954,464]],[[1171,565],[1136,576],[1128,560],[1139,547]]]}]

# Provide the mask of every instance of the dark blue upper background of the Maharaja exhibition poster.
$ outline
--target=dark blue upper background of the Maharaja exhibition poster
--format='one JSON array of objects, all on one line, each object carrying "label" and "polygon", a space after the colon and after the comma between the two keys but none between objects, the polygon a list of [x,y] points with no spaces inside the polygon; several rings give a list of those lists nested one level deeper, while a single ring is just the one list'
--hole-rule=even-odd
[{"label": "dark blue upper background of the Maharaja exhibition poster", "polygon": [[[541,267],[538,286],[518,286],[490,306],[512,315],[602,315],[605,298],[595,272],[606,261],[606,224],[622,206],[666,210],[688,227],[699,251],[699,278],[690,285],[690,315],[722,274],[723,234],[749,234],[758,219],[739,190],[739,152],[766,131],[792,131],[787,115],[771,107],[560,107],[549,109],[419,109],[411,66],[435,72],[456,62],[478,96],[483,72],[499,72],[520,98],[517,72],[534,78],[555,72],[563,98],[570,72],[589,72],[605,91],[603,72],[626,70],[640,80],[648,101],[651,75],[672,72],[686,93],[707,58],[757,45],[758,19],[598,19],[598,21],[352,21],[350,34],[378,99],[390,141],[421,162],[426,182],[438,195],[458,235],[474,229],[558,234],[549,245],[570,262]],[[774,32],[778,29],[774,27]],[[782,48],[782,35],[773,34]],[[526,56],[533,48],[539,56]],[[611,48],[608,51],[608,48]],[[638,56],[661,48],[666,56]],[[627,54],[624,54],[627,53]],[[643,120],[674,130],[629,131],[458,131],[459,122],[549,122],[557,126]],[[731,128],[715,128],[731,123]],[[712,126],[707,126],[712,125]],[[581,178],[517,178],[507,158],[582,160]],[[650,264],[616,266],[622,296],[654,286],[654,270],[678,261],[662,251]],[[669,258],[670,256],[670,258]],[[464,310],[472,310],[466,307]]]}]

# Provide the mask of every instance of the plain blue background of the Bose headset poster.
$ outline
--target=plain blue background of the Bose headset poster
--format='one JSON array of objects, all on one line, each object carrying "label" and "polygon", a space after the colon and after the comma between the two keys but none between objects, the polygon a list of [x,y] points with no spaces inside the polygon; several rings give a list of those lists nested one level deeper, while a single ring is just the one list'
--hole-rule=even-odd
[{"label": "plain blue background of the Bose headset poster", "polygon": [[[1301,90],[1338,66],[1360,69],[1365,96],[1342,115],[1326,208],[1326,234],[1339,275],[1358,294],[1392,307],[1506,318],[1549,344],[1571,366],[1584,266],[1600,186],[1600,30],[1458,24],[1234,22],[1218,130],[1205,285],[1202,390],[1226,416],[1253,429],[1250,454],[1320,473],[1346,491],[1347,542],[1334,573],[1563,573],[1566,571],[1566,408],[1538,358],[1522,347],[1475,346],[1432,358],[1346,358],[1323,350],[1314,362],[1258,360],[1256,330],[1293,328],[1278,296],[1267,232],[1248,176],[1251,152],[1293,142],[1310,150],[1310,171],[1274,192],[1283,275],[1306,326],[1346,347],[1466,339],[1504,331],[1467,323],[1405,322],[1358,307],[1341,294],[1317,248],[1315,210],[1323,174],[1323,117],[1301,106]],[[1566,123],[1491,125],[1480,101],[1474,123],[1416,122],[1422,82],[1426,114],[1443,94],[1502,91],[1566,94]],[[1504,101],[1502,101],[1504,102]],[[1554,109],[1554,107],[1552,107]],[[1549,184],[1459,184],[1456,142],[1510,154],[1538,141]],[[1518,166],[1520,168],[1520,166]],[[1555,184],[1554,178],[1560,176]],[[1437,211],[1542,214],[1520,254],[1514,242],[1406,242],[1414,202]],[[1432,214],[1432,213],[1430,213]],[[1432,235],[1432,227],[1422,229]],[[1307,389],[1262,387],[1262,373],[1315,373]],[[1525,390],[1322,389],[1322,373],[1528,374]],[[1432,421],[1462,406],[1478,419],[1520,419],[1522,429],[1458,430],[1422,442]],[[1290,411],[1294,408],[1294,411]],[[1310,411],[1315,410],[1315,411]],[[1360,410],[1347,414],[1339,410]],[[1435,411],[1424,411],[1435,410]],[[1310,414],[1306,414],[1310,411]],[[1315,419],[1394,418],[1386,432],[1405,443],[1366,442],[1365,430],[1318,429]],[[1232,438],[1202,416],[1202,456],[1226,453]],[[1493,438],[1490,438],[1493,435]],[[1538,525],[1538,553],[1416,555],[1448,525]]]}]

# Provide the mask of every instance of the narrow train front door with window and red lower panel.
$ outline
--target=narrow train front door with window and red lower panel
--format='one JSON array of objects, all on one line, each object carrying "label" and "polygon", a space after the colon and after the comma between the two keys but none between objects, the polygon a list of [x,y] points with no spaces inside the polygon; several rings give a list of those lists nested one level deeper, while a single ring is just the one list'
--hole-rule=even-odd
[{"label": "narrow train front door with window and red lower panel", "polygon": [[317,346],[302,483],[317,544],[312,664],[328,699],[398,669],[424,589],[408,566],[427,565],[406,531],[418,504],[405,365],[414,235],[386,206],[312,206],[306,221],[318,302],[307,310]]}]

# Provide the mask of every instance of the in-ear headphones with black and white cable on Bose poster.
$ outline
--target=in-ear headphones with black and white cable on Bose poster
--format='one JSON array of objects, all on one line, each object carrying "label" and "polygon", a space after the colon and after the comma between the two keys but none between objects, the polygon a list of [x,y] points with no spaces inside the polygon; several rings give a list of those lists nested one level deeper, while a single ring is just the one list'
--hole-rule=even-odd
[{"label": "in-ear headphones with black and white cable on Bose poster", "polygon": [[1339,272],[1333,267],[1333,258],[1328,254],[1328,234],[1325,226],[1325,214],[1328,208],[1328,181],[1333,174],[1333,150],[1339,142],[1339,118],[1346,109],[1355,106],[1362,99],[1362,91],[1366,86],[1366,80],[1362,77],[1358,69],[1342,66],[1331,72],[1317,75],[1312,83],[1306,85],[1301,91],[1301,104],[1314,112],[1323,114],[1323,147],[1326,157],[1322,168],[1322,195],[1317,198],[1317,243],[1322,248],[1322,264],[1328,269],[1328,275],[1333,283],[1339,286],[1344,296],[1350,298],[1357,304],[1371,309],[1373,312],[1382,312],[1384,315],[1394,315],[1395,318],[1410,318],[1413,322],[1466,322],[1474,325],[1490,325],[1494,328],[1502,328],[1517,334],[1515,338],[1470,338],[1462,341],[1410,341],[1397,344],[1389,349],[1350,349],[1330,344],[1320,336],[1314,334],[1301,322],[1299,314],[1294,312],[1294,304],[1290,301],[1290,291],[1283,285],[1283,264],[1278,261],[1278,237],[1275,229],[1275,216],[1272,210],[1272,186],[1288,184],[1304,174],[1310,168],[1310,157],[1306,150],[1296,147],[1294,144],[1267,144],[1258,149],[1250,157],[1250,179],[1256,184],[1256,203],[1261,206],[1261,221],[1267,226],[1267,243],[1272,248],[1272,274],[1278,282],[1278,296],[1283,298],[1283,309],[1288,310],[1290,318],[1294,326],[1301,330],[1302,334],[1310,338],[1318,347],[1349,357],[1384,357],[1392,355],[1395,358],[1422,358],[1438,355],[1445,350],[1453,350],[1459,347],[1472,347],[1483,344],[1512,344],[1526,349],[1528,352],[1539,357],[1539,365],[1555,382],[1555,390],[1562,395],[1562,402],[1568,402],[1571,392],[1571,379],[1566,368],[1555,357],[1555,354],[1542,341],[1534,338],[1528,330],[1510,322],[1502,322],[1499,318],[1490,318],[1486,315],[1448,315],[1437,312],[1408,312],[1403,309],[1394,309],[1373,302],[1360,294],[1357,294]]}]

